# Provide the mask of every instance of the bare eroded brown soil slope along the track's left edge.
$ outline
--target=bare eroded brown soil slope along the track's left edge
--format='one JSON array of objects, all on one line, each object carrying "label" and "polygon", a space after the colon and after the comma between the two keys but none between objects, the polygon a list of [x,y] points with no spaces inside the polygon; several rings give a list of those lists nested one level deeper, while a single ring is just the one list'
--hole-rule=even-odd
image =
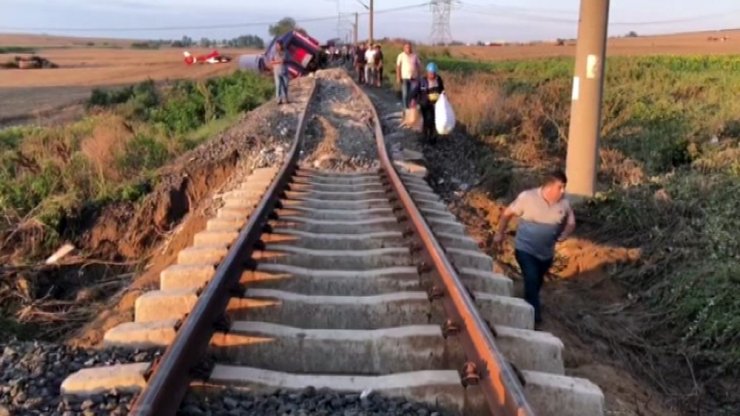
[{"label": "bare eroded brown soil slope along the track's left edge", "polygon": [[220,207],[218,195],[235,188],[253,169],[282,162],[312,82],[305,78],[291,84],[293,104],[265,104],[168,165],[162,184],[135,213],[111,207],[95,221],[86,234],[91,246],[113,247],[116,242],[113,253],[146,260],[146,265],[130,284],[101,305],[93,322],[69,338],[71,344],[96,345],[105,331],[133,320],[136,298],[158,287],[159,273],[174,263],[177,253],[190,246],[193,236],[215,216]]}]

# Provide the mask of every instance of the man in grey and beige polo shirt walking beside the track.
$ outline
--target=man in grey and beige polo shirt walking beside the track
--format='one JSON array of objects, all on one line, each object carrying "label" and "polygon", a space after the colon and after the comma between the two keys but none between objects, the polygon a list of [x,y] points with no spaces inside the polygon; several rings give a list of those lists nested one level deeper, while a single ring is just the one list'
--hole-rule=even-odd
[{"label": "man in grey and beige polo shirt walking beside the track", "polygon": [[514,243],[516,261],[524,279],[524,299],[534,308],[535,323],[542,323],[540,289],[552,266],[555,244],[576,228],[576,217],[565,195],[568,179],[562,170],[548,175],[539,188],[519,194],[501,216],[493,241],[501,245],[513,217],[519,218]]}]

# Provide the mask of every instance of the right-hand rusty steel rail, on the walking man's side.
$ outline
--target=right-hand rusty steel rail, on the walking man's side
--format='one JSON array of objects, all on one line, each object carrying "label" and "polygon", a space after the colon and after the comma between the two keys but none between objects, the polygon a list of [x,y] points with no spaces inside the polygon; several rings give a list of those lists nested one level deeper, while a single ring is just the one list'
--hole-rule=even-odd
[{"label": "right-hand rusty steel rail, on the walking man's side", "polygon": [[534,416],[535,413],[524,396],[522,385],[496,346],[488,324],[480,316],[457,271],[447,259],[444,249],[396,172],[388,156],[383,128],[375,106],[357,84],[352,85],[372,111],[381,166],[439,274],[444,291],[442,302],[445,312],[452,317],[453,324],[459,328],[457,336],[467,359],[472,360],[476,366],[473,371],[479,377],[477,384],[485,395],[491,413],[494,416]]}]

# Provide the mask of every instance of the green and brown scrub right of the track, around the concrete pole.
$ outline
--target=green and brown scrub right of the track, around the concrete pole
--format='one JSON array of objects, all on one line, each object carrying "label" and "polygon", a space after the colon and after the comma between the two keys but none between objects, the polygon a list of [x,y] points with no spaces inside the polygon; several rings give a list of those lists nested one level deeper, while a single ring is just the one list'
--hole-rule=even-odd
[{"label": "green and brown scrub right of the track, around the concrete pole", "polygon": [[[492,152],[479,166],[511,198],[562,165],[571,59],[473,62],[434,55],[461,126]],[[582,236],[640,248],[616,277],[647,306],[623,347],[695,366],[699,382],[740,375],[740,56],[607,60],[597,198]],[[491,160],[493,158],[493,160]],[[517,170],[522,172],[522,170]],[[519,181],[517,185],[513,182]],[[623,313],[633,311],[627,308]],[[685,358],[684,358],[685,357]]]}]

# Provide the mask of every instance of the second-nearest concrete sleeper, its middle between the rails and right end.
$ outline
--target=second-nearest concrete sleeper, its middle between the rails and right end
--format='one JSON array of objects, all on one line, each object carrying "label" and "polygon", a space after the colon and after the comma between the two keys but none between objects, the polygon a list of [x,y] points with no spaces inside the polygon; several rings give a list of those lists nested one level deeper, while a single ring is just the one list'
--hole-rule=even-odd
[{"label": "second-nearest concrete sleeper, its middle between the rails and right end", "polygon": [[[500,326],[497,342],[518,368],[563,374],[563,344],[545,332]],[[304,329],[236,321],[214,334],[217,360],[293,373],[380,375],[456,369],[465,362],[460,343],[444,339],[439,325],[376,330]]]}]

